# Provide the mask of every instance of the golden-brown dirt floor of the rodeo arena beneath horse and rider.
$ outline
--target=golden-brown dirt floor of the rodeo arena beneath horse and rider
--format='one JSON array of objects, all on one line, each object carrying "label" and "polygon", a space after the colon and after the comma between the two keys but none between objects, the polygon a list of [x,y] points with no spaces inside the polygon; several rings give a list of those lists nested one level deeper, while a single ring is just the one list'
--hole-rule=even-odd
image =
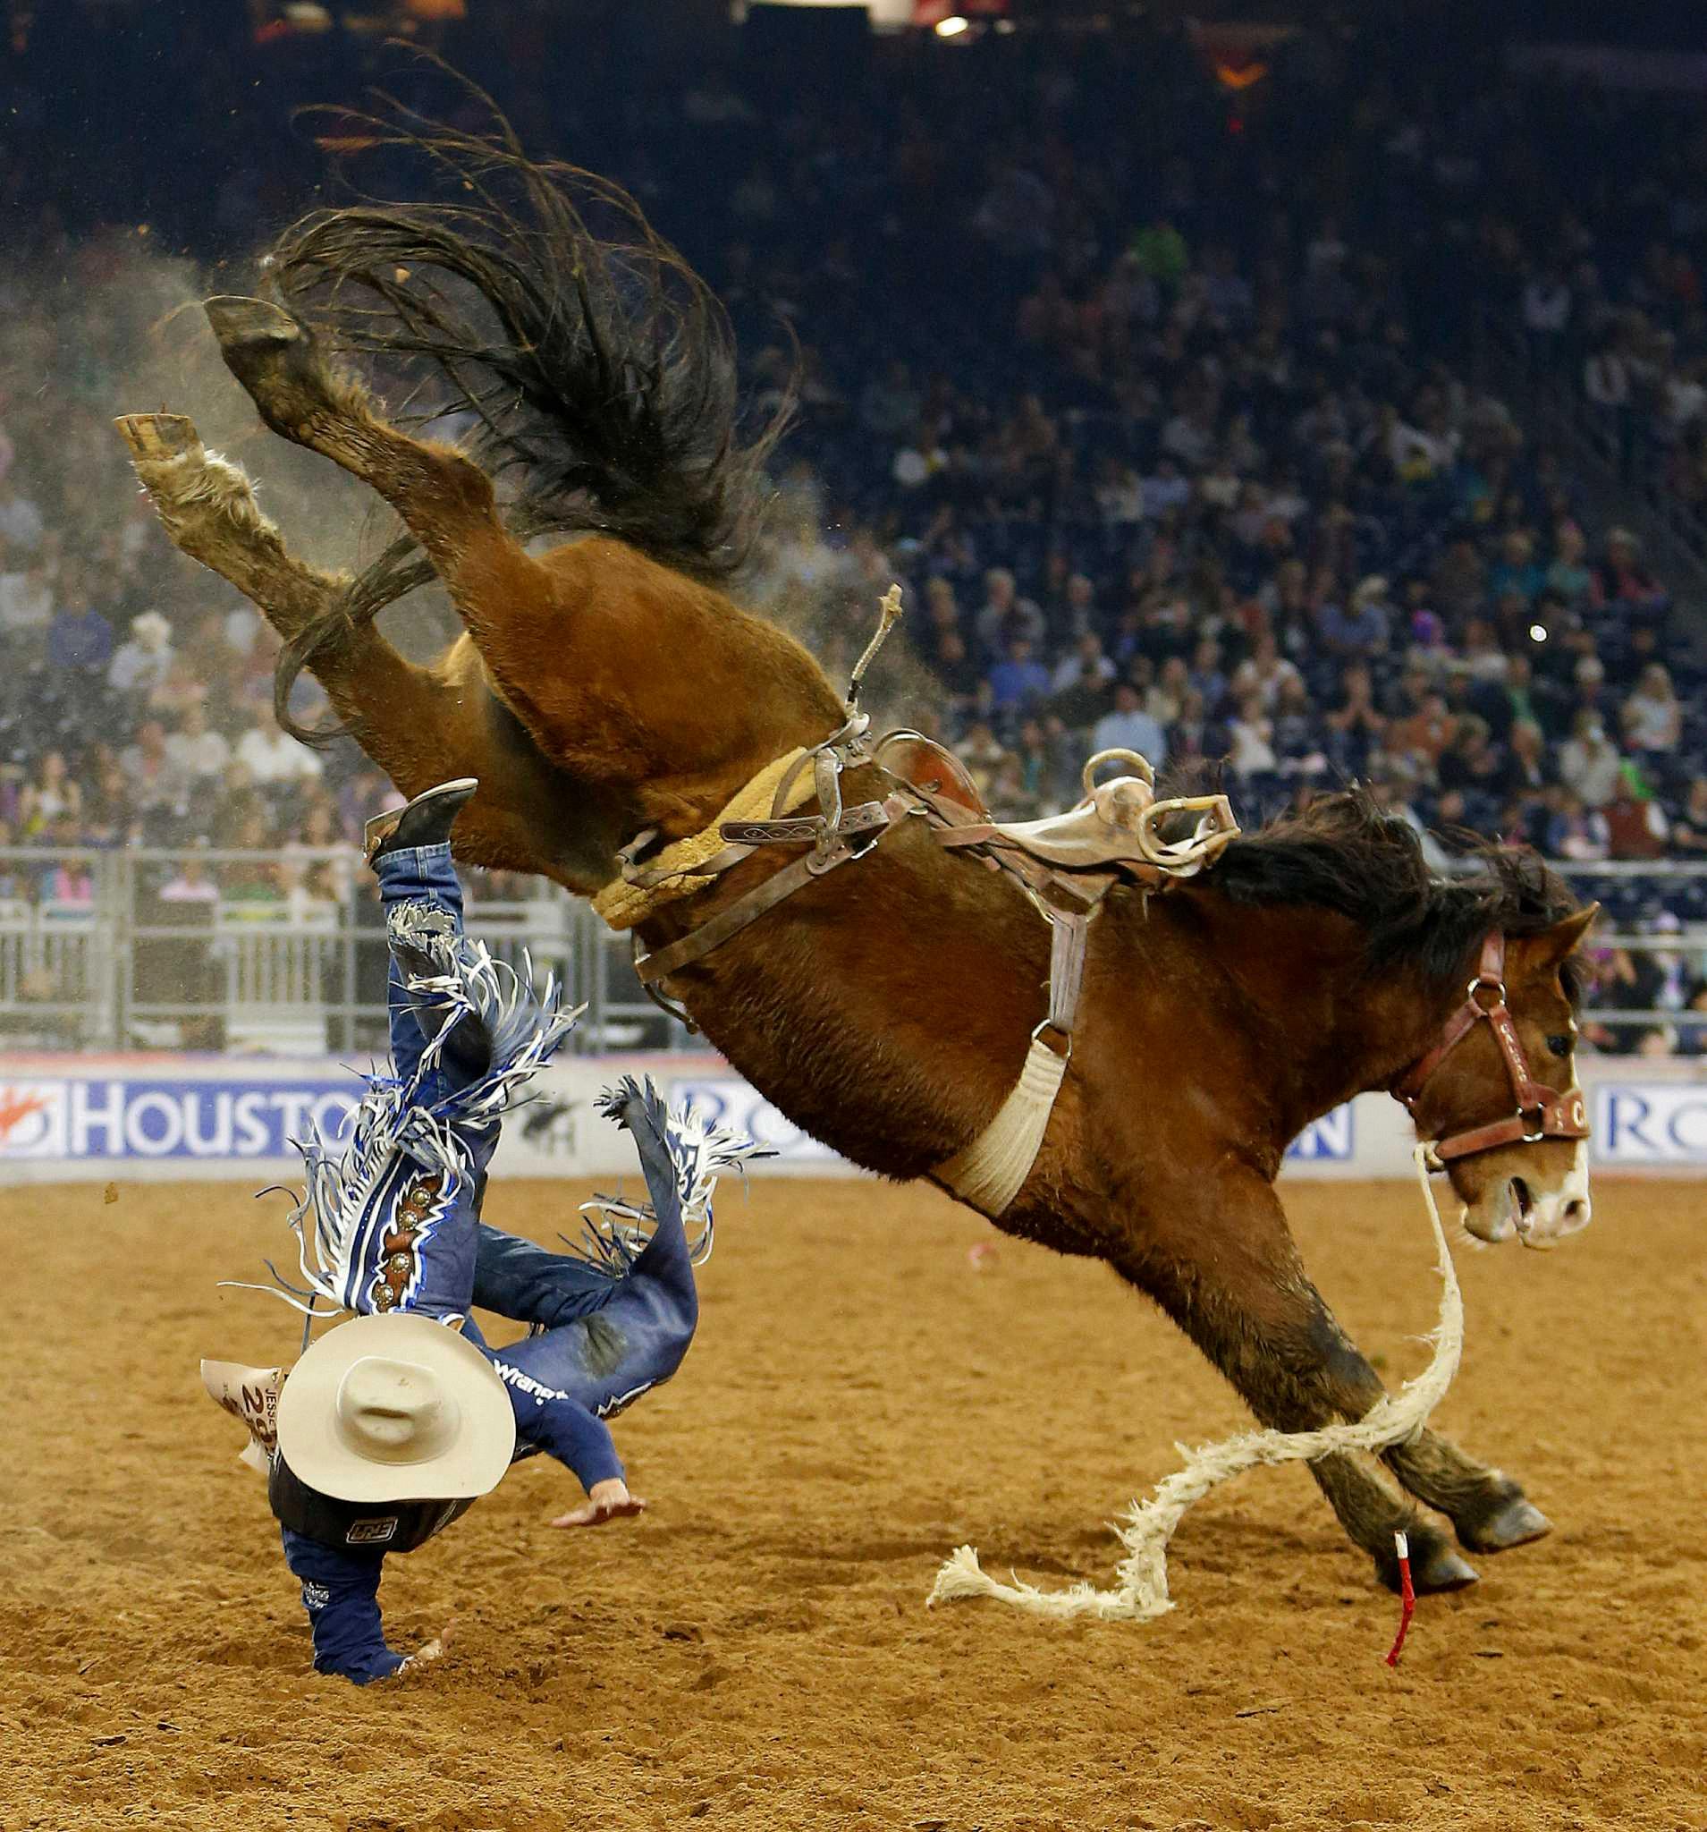
[{"label": "golden-brown dirt floor of the rodeo arena beneath horse and rider", "polygon": [[[1425,1598],[1397,1673],[1397,1605],[1300,1469],[1187,1517],[1158,1623],[927,1610],[960,1541],[1106,1579],[1099,1522],[1244,1414],[1099,1266],[923,1189],[771,1180],[720,1205],[700,1339],[617,1427],[652,1511],[551,1532],[568,1478],[524,1466],[390,1566],[392,1640],[454,1623],[447,1658],[355,1691],[310,1673],[196,1378],[291,1356],[284,1306],[214,1290],[280,1249],[277,1200],[0,1191],[0,1827],[1703,1828],[1707,1213],[1597,1194],[1555,1255],[1460,1253],[1440,1422],[1557,1532]],[[1412,1372],[1416,1194],[1289,1205],[1348,1328]],[[566,1215],[564,1185],[493,1194],[540,1238]]]}]

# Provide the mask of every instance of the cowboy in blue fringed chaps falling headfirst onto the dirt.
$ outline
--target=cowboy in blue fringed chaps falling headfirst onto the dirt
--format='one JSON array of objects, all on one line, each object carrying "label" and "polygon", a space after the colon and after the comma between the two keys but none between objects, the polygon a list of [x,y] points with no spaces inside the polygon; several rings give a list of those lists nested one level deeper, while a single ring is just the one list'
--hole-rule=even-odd
[{"label": "cowboy in blue fringed chaps falling headfirst onto the dirt", "polygon": [[[756,1150],[692,1112],[669,1114],[630,1079],[603,1108],[634,1136],[650,1204],[588,1205],[577,1253],[480,1220],[502,1118],[575,1013],[549,984],[535,998],[531,973],[463,936],[449,830],[473,790],[429,790],[372,835],[392,1072],[370,1083],[341,1150],[317,1134],[304,1143],[308,1187],[291,1216],[302,1282],[280,1281],[308,1315],[326,1303],[355,1317],[315,1341],[282,1387],[278,1370],[203,1363],[267,1471],[315,1667],[357,1684],[408,1663],[381,1627],[385,1555],[432,1539],[513,1460],[546,1451],[586,1488],[553,1526],[645,1508],[606,1420],[680,1367],[716,1172]],[[493,1350],[476,1304],[531,1334]]]}]

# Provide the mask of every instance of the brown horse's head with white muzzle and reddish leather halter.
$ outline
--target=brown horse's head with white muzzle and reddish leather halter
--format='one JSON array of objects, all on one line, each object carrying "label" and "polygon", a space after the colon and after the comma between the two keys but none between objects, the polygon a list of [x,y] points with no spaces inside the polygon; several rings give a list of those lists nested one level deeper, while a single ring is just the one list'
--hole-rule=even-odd
[{"label": "brown horse's head with white muzzle and reddish leather halter", "polygon": [[1495,932],[1432,1048],[1396,1092],[1480,1240],[1548,1248],[1588,1226],[1588,1114],[1564,964],[1597,905],[1528,936]]}]

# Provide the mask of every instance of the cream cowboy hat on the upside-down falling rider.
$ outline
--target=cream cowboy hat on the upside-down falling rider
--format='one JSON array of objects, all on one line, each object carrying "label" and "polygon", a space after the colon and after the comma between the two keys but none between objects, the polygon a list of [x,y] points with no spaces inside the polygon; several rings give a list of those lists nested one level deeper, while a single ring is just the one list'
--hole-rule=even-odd
[{"label": "cream cowboy hat on the upside-down falling rider", "polygon": [[456,1328],[353,1317],[286,1376],[278,1451],[335,1500],[462,1500],[495,1489],[516,1442],[509,1394]]}]

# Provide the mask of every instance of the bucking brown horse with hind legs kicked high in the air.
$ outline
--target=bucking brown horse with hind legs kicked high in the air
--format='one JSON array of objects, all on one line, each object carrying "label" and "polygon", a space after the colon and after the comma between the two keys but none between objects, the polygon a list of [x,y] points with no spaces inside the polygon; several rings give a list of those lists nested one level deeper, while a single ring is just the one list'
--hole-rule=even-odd
[{"label": "bucking brown horse with hind legs kicked high in the air", "polygon": [[[848,718],[806,649],[725,590],[778,427],[744,442],[722,308],[612,185],[531,163],[504,132],[388,137],[447,181],[441,200],[317,213],[269,258],[271,299],[211,299],[207,317],[266,425],[372,485],[407,537],[359,577],[317,572],[187,420],[119,425],[176,544],[286,639],[280,716],[308,667],[405,795],[480,779],[463,859],[593,896],[645,856],[637,837],[703,834]],[[386,418],[346,355],[456,410],[463,443]],[[544,533],[575,539],[538,551]],[[416,665],[374,617],[429,573],[465,634]],[[844,793],[892,788],[855,760]],[[892,1178],[932,1176],[985,1132],[1049,986],[1027,887],[938,839],[894,821],[663,982],[782,1112]],[[659,956],[804,850],[755,846],[650,911],[641,945]],[[1282,1154],[1352,1096],[1397,1090],[1421,1138],[1463,1143],[1447,1169],[1473,1233],[1538,1246],[1582,1226],[1568,956],[1592,914],[1498,850],[1436,881],[1357,793],[1233,841],[1167,894],[1115,885],[1048,1130],[998,1226],[1106,1260],[1266,1425],[1363,1416],[1381,1383],[1304,1275]],[[1476,1576],[1390,1478],[1473,1550],[1548,1530],[1517,1482],[1432,1431],[1385,1464],[1313,1467],[1388,1583],[1394,1530],[1421,1588]]]}]

